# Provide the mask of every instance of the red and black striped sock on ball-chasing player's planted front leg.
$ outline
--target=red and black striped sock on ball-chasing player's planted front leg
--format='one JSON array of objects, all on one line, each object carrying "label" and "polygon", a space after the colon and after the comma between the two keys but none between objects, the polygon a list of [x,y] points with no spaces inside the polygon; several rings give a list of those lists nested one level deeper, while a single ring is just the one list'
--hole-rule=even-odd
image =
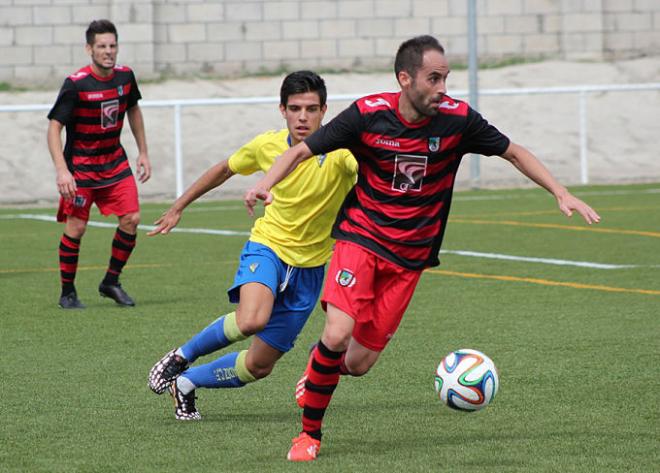
[{"label": "red and black striped sock on ball-chasing player's planted front leg", "polygon": [[305,382],[303,431],[321,440],[321,425],[332,393],[339,383],[339,367],[345,352],[332,351],[319,341],[312,355],[312,366]]}]

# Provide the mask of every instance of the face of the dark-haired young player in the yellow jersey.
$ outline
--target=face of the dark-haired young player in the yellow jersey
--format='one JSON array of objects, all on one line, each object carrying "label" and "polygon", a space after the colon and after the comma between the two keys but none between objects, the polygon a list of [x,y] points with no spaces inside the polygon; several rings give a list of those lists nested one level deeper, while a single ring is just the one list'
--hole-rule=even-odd
[{"label": "face of the dark-haired young player in the yellow jersey", "polygon": [[295,145],[321,127],[327,106],[321,105],[316,92],[289,95],[286,106],[280,105],[280,112],[286,120],[291,144]]}]

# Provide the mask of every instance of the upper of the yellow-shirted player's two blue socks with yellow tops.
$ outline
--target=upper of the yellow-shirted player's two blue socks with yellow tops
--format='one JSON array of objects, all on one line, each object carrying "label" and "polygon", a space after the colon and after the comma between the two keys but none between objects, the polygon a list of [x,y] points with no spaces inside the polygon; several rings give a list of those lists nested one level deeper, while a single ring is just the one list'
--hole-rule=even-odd
[{"label": "upper of the yellow-shirted player's two blue socks with yellow tops", "polygon": [[182,345],[179,348],[179,354],[192,363],[200,356],[208,355],[246,338],[247,335],[241,333],[236,323],[236,312],[230,312],[218,318]]}]

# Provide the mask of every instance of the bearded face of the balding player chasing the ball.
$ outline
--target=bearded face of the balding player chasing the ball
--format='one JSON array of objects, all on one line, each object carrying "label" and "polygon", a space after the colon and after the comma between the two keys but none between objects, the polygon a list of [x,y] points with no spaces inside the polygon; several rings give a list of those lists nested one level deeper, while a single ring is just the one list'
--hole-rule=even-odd
[{"label": "bearded face of the balding player chasing the ball", "polygon": [[449,65],[438,51],[424,53],[422,67],[412,78],[408,99],[417,113],[431,117],[438,114],[438,107],[447,93]]}]

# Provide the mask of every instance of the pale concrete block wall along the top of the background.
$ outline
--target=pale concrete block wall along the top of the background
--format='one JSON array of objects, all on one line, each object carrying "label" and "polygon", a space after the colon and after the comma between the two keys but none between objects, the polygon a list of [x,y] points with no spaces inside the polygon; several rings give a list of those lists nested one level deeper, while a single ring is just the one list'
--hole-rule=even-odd
[{"label": "pale concrete block wall along the top of the background", "polygon": [[[660,54],[658,0],[477,0],[483,61]],[[390,67],[430,33],[467,56],[466,0],[0,0],[0,82],[52,83],[86,64],[84,30],[119,29],[140,77]]]}]

